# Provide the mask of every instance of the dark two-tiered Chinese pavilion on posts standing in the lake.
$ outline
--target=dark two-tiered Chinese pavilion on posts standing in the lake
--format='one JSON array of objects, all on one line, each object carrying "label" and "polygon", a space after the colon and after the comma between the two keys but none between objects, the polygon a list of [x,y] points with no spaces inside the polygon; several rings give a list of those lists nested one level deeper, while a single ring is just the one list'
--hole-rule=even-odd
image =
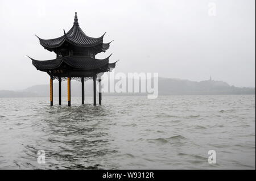
[{"label": "dark two-tiered Chinese pavilion on posts standing in the lake", "polygon": [[[104,33],[105,35],[105,33]],[[68,106],[71,106],[71,79],[81,80],[82,104],[84,104],[84,81],[93,79],[93,105],[96,106],[96,78],[99,83],[99,104],[101,104],[101,76],[106,71],[115,68],[115,63],[105,59],[95,58],[96,54],[106,52],[110,43],[103,43],[103,37],[89,37],[81,30],[77,13],[72,28],[64,35],[55,39],[41,39],[40,45],[56,53],[53,60],[39,61],[31,58],[37,70],[44,71],[50,76],[50,103],[53,106],[53,79],[59,80],[59,104],[61,105],[61,81],[68,82]],[[30,57],[29,57],[30,58]]]}]

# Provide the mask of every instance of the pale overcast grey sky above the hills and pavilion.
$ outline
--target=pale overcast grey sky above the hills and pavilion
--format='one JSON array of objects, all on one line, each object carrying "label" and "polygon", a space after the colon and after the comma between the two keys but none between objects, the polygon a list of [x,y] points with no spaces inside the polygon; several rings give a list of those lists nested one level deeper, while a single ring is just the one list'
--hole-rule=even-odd
[{"label": "pale overcast grey sky above the hills and pavilion", "polygon": [[[216,3],[216,16],[208,4]],[[82,30],[105,42],[104,58],[120,59],[116,72],[158,72],[159,77],[222,80],[255,86],[255,1],[5,1],[0,0],[0,90],[49,83],[31,64],[55,58],[43,39],[63,35],[75,11]]]}]

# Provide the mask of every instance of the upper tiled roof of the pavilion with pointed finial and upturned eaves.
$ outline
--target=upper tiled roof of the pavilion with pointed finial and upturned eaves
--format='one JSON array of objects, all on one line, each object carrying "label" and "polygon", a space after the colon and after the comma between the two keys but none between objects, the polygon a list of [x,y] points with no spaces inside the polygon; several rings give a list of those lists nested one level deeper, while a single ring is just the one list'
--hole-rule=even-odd
[{"label": "upper tiled roof of the pavilion with pointed finial and upturned eaves", "polygon": [[67,33],[65,33],[65,30],[64,30],[63,36],[57,37],[55,39],[41,39],[38,36],[36,37],[38,37],[40,44],[46,49],[53,49],[53,48],[60,47],[65,41],[67,41],[68,43],[78,47],[94,47],[96,45],[101,44],[102,51],[105,52],[105,50],[109,48],[110,43],[103,43],[104,35],[97,38],[89,37],[85,35],[85,33],[81,30],[79,26],[77,13],[75,12],[73,27]]}]

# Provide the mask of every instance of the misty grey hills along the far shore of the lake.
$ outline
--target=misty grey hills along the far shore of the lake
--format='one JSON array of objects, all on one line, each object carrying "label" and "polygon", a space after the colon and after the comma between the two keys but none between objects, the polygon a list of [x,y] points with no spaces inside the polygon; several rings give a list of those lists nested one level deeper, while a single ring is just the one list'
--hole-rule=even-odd
[{"label": "misty grey hills along the far shore of the lake", "polygon": [[[234,87],[223,81],[188,81],[174,78],[159,78],[159,95],[218,95],[255,94],[255,88]],[[67,82],[61,86],[62,95],[67,95]],[[53,83],[53,96],[58,96],[58,83]],[[104,95],[146,95],[145,93],[103,93]],[[81,82],[71,82],[71,95],[81,96]],[[93,82],[85,82],[85,95],[93,95]],[[49,85],[36,85],[23,91],[0,90],[0,97],[49,96]]]}]

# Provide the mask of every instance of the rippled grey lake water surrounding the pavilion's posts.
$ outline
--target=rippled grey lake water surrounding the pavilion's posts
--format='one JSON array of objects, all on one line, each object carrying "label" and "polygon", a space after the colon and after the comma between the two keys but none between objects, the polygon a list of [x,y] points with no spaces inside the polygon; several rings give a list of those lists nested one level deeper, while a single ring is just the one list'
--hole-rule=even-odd
[{"label": "rippled grey lake water surrounding the pavilion's posts", "polygon": [[0,169],[255,169],[255,95],[102,98],[0,98]]}]

